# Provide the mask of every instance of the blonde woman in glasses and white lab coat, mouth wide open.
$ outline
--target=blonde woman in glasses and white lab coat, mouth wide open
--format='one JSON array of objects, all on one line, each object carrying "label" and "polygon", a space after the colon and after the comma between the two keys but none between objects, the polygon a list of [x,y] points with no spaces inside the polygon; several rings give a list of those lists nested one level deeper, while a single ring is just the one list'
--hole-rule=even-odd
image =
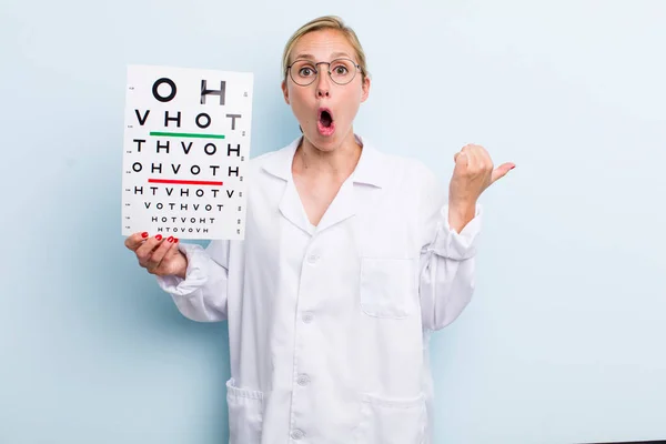
[{"label": "blonde woman in glasses and white lab coat, mouth wide open", "polygon": [[337,18],[283,64],[303,134],[252,160],[245,240],[125,244],[183,315],[228,320],[232,444],[430,442],[427,336],[470,302],[477,199],[513,164],[464,147],[445,203],[420,162],[355,134],[371,80]]}]

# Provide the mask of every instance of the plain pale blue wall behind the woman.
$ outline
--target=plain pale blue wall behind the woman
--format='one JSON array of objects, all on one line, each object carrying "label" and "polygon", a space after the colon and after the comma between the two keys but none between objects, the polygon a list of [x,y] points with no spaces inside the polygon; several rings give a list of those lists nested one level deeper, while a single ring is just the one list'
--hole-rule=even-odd
[{"label": "plain pale blue wall behind the woman", "polygon": [[120,234],[128,63],[253,71],[252,155],[297,135],[284,42],[336,13],[374,77],[356,131],[483,144],[474,302],[433,343],[436,443],[666,438],[666,3],[4,0],[0,443],[219,444],[225,324]]}]

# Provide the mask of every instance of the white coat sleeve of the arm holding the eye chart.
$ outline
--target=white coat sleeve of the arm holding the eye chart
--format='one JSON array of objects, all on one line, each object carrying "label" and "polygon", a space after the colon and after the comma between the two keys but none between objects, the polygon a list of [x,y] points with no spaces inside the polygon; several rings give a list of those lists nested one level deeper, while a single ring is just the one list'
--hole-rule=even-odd
[{"label": "white coat sleeve of the arm holding the eye chart", "polygon": [[199,322],[226,320],[229,246],[229,241],[211,241],[205,249],[180,243],[179,250],[188,258],[185,279],[157,278],[185,317]]}]

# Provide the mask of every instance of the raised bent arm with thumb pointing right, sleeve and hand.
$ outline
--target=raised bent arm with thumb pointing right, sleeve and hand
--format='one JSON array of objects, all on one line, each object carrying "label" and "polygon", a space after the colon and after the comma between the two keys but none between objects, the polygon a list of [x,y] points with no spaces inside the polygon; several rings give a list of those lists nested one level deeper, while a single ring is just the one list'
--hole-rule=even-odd
[{"label": "raised bent arm with thumb pointing right, sleeve and hand", "polygon": [[476,238],[481,231],[478,198],[515,168],[511,162],[494,168],[488,152],[474,144],[463,147],[454,161],[447,205],[430,171],[424,173],[418,211],[424,220],[420,290],[423,326],[430,330],[448,325],[470,303],[475,283]]}]

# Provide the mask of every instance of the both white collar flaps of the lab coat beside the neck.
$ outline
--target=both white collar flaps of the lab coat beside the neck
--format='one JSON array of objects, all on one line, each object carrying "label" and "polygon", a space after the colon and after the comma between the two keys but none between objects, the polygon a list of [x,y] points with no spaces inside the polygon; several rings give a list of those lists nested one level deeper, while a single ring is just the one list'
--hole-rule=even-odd
[{"label": "both white collar flaps of the lab coat beside the neck", "polygon": [[[372,143],[362,137],[354,134],[356,141],[363,147],[361,150],[361,158],[356,164],[356,169],[352,173],[351,180],[354,183],[363,183],[372,186],[383,188],[387,183],[386,169],[383,168],[384,155],[381,151],[376,150]],[[303,137],[299,137],[289,145],[275,152],[270,159],[263,164],[264,171],[270,174],[280,178],[284,181],[292,182],[292,163],[294,154]]]}]

